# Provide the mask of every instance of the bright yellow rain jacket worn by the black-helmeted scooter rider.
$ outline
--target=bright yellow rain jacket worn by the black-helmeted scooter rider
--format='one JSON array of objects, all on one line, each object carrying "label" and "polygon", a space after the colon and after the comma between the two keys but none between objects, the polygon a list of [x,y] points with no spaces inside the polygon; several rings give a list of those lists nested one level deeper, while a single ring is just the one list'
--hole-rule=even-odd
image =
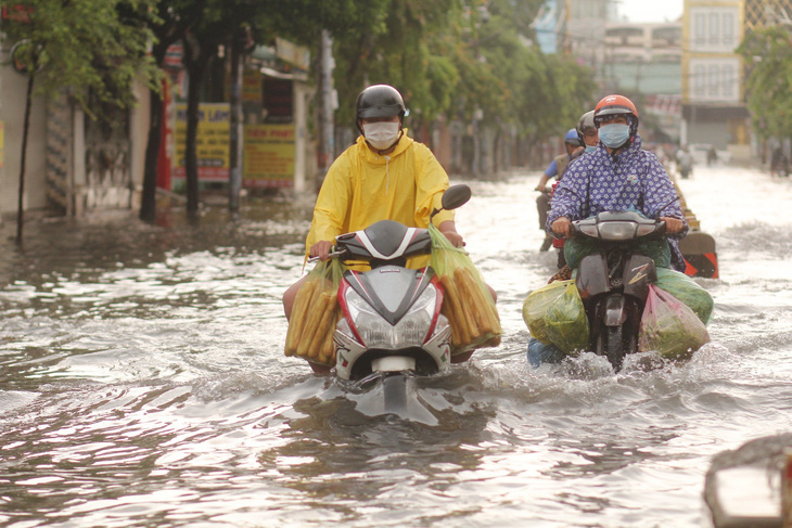
[{"label": "bright yellow rain jacket worn by the black-helmeted scooter rider", "polygon": [[[448,175],[426,145],[404,130],[396,149],[382,156],[371,151],[362,136],[330,166],[314,209],[306,255],[320,241],[366,229],[380,220],[395,220],[408,228],[427,228],[434,208],[440,208]],[[440,211],[434,224],[454,220],[454,211]],[[410,268],[429,259],[410,259]]]}]

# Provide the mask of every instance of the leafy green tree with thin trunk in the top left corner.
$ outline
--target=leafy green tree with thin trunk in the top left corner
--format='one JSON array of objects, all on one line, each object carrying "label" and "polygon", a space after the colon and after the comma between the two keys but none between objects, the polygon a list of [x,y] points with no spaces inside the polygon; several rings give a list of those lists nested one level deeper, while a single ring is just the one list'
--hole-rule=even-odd
[{"label": "leafy green tree with thin trunk in the top left corner", "polygon": [[[150,30],[130,13],[146,12],[149,0],[3,0],[14,16],[4,31],[17,46],[15,62],[28,76],[20,171],[17,243],[22,242],[25,150],[35,94],[67,89],[69,99],[92,118],[106,108],[129,108],[133,82],[156,85],[157,70],[146,56]],[[111,112],[112,113],[112,112]]]}]

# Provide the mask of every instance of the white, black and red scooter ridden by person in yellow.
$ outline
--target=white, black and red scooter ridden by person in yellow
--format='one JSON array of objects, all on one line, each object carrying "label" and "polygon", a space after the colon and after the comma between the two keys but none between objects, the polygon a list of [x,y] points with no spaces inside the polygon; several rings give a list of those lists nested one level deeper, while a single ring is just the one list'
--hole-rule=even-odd
[{"label": "white, black and red scooter ridden by person in yellow", "polygon": [[[432,218],[470,196],[468,185],[450,186]],[[371,268],[346,271],[338,287],[343,317],[333,335],[336,375],[360,384],[382,379],[386,407],[404,403],[408,377],[440,373],[451,362],[451,329],[440,313],[443,287],[431,267],[406,268],[408,258],[431,253],[429,230],[381,220],[336,236],[331,254]]]}]

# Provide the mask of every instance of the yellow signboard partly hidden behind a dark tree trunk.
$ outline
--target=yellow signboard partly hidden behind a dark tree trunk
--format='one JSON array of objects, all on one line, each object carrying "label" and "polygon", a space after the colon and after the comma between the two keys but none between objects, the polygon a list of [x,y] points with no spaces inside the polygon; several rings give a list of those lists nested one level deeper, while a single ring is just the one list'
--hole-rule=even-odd
[{"label": "yellow signboard partly hidden behind a dark tree trunk", "polygon": [[[174,178],[184,178],[187,104],[176,105]],[[228,181],[230,170],[231,111],[228,103],[201,103],[195,137],[199,180]]]}]

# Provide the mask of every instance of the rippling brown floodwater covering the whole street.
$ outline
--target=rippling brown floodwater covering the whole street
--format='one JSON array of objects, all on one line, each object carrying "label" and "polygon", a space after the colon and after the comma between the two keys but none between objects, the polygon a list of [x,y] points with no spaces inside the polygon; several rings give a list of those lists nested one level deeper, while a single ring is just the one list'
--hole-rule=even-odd
[{"label": "rippling brown floodwater covering the whole street", "polygon": [[614,375],[527,365],[538,173],[470,181],[458,211],[497,291],[499,348],[421,379],[422,412],[283,355],[280,296],[310,203],[0,228],[0,526],[699,527],[712,458],[792,430],[792,181],[701,167],[713,343]]}]

